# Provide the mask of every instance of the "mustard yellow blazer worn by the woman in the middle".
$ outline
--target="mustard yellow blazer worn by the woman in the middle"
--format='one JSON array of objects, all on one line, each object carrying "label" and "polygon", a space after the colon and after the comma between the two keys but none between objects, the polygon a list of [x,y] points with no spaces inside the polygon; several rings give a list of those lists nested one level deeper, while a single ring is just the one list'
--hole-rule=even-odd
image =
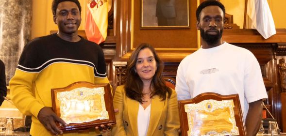
[{"label": "mustard yellow blazer worn by the woman in the middle", "polygon": [[[147,136],[179,136],[180,120],[176,92],[172,90],[169,99],[160,100],[157,95],[152,98]],[[113,106],[118,108],[119,112],[115,114],[117,124],[112,128],[112,136],[138,136],[139,102],[126,96],[124,86],[117,87]]]}]

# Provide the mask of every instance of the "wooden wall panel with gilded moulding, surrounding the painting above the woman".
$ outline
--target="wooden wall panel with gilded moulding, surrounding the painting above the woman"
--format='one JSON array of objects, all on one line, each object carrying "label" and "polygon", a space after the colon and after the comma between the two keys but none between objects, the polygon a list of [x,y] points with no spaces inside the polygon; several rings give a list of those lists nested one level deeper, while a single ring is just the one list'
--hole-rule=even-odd
[{"label": "wooden wall panel with gilded moulding, surrounding the painting above the woman", "polygon": [[117,9],[117,60],[128,60],[140,43],[155,47],[162,60],[180,62],[198,49],[196,15],[198,1],[189,1],[189,26],[187,29],[140,29],[141,0],[115,0]]}]

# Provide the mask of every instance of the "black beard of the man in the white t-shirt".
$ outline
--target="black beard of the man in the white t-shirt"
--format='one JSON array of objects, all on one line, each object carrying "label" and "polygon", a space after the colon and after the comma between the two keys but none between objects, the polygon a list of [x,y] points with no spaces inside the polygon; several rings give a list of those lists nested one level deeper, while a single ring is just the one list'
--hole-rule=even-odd
[{"label": "black beard of the man in the white t-shirt", "polygon": [[[214,29],[210,29],[210,30],[214,30]],[[220,38],[222,36],[222,30],[218,30],[218,34],[216,34],[216,35],[208,34],[207,31],[208,30],[204,31],[204,30],[200,29],[202,39],[208,45],[216,45],[216,44],[218,44],[219,40],[220,40]]]}]

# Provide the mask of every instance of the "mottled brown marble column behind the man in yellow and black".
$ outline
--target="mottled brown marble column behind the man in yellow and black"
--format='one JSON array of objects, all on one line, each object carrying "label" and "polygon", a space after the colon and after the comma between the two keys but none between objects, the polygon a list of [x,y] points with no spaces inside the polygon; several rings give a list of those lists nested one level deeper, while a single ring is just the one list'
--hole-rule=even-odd
[{"label": "mottled brown marble column behind the man in yellow and black", "polygon": [[31,25],[32,0],[0,0],[0,59],[5,63],[7,84],[31,38]]}]

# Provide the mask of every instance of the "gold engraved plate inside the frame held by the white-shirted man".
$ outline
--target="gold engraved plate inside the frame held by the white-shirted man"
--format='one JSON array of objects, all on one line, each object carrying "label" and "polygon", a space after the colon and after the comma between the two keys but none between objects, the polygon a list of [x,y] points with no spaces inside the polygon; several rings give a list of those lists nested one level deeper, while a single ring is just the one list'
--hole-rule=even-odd
[{"label": "gold engraved plate inside the frame held by the white-shirted man", "polygon": [[185,105],[189,123],[188,136],[237,136],[233,100],[204,100]]}]

